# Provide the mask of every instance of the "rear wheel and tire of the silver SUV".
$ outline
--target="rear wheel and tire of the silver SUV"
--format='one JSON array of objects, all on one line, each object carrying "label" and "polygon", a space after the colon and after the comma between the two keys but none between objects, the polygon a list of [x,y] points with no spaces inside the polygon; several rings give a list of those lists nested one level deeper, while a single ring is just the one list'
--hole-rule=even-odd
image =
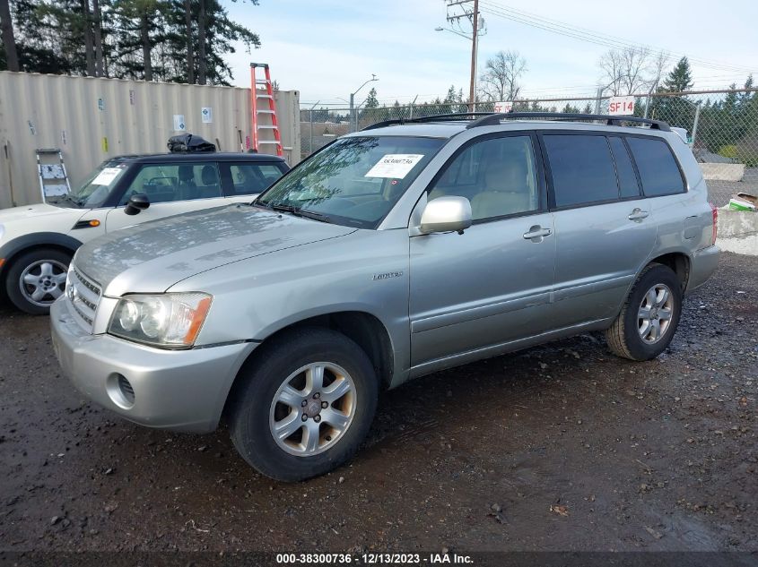
[{"label": "rear wheel and tire of the silver SUV", "polygon": [[674,339],[681,314],[682,288],[676,274],[662,264],[649,264],[606,330],[608,347],[614,355],[631,360],[658,357]]}]

